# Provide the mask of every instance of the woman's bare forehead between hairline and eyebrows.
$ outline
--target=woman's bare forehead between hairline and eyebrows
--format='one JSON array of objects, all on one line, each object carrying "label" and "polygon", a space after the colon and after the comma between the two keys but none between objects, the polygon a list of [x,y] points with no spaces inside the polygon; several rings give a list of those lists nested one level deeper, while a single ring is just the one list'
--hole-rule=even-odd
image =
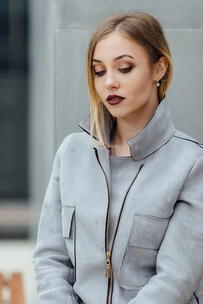
[{"label": "woman's bare forehead between hairline and eyebrows", "polygon": [[128,54],[137,60],[147,59],[147,52],[144,47],[118,31],[112,32],[99,40],[92,57],[104,62],[104,60],[113,60],[121,54]]}]

